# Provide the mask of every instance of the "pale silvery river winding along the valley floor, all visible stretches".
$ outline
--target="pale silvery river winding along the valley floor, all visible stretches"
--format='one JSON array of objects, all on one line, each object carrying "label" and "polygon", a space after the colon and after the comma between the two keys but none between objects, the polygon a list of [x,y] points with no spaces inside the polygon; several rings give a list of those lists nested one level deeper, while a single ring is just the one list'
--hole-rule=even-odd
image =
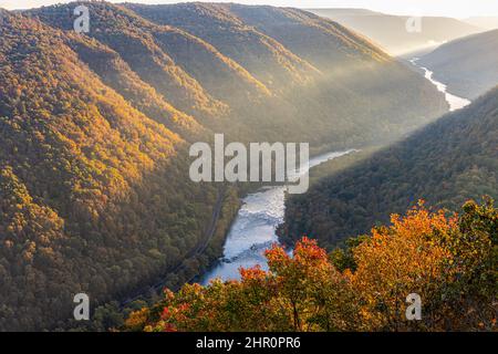
[{"label": "pale silvery river winding along the valley floor, all visible stretches", "polygon": [[[414,58],[409,62],[423,70],[425,77],[438,91],[445,93],[446,101],[449,104],[449,111],[463,108],[470,103],[466,98],[446,92],[446,85],[434,80],[432,71],[417,65],[417,58]],[[312,168],[352,152],[354,149],[317,156],[310,160],[309,167]],[[302,173],[304,171],[299,171],[298,174]],[[262,269],[268,269],[263,253],[271,244],[278,243],[279,241],[276,235],[276,228],[283,221],[284,191],[284,186],[264,187],[255,194],[248,195],[242,200],[242,207],[225,242],[224,257],[214,269],[204,274],[200,281],[203,284],[207,284],[216,278],[221,280],[240,279],[239,268],[241,267],[248,268],[260,264]]]}]

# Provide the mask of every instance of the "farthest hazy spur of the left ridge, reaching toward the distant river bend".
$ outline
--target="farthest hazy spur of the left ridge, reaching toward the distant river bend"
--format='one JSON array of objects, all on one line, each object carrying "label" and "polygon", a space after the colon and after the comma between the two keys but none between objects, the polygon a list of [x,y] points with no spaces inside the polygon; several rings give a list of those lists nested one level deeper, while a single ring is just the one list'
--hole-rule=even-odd
[{"label": "farthest hazy spur of the left ridge, reaching toward the distant river bend", "polygon": [[[419,106],[416,107],[407,97],[425,101],[426,94],[432,91],[430,84],[366,39],[336,22],[298,9],[240,4],[227,7],[245,22],[274,38],[323,73],[322,81],[319,81],[321,102],[325,104],[331,97],[338,97],[331,112],[338,111],[338,102],[369,106],[371,110],[362,117],[361,124],[372,131],[377,129],[378,124],[396,125],[404,122],[412,125],[427,122],[418,111]],[[409,84],[401,86],[401,82]],[[380,92],[383,92],[382,96],[377,95]],[[391,97],[390,103],[382,102],[387,96]],[[418,116],[405,118],[394,111],[385,115],[390,105],[394,107],[398,104],[404,108],[397,112],[418,112]],[[445,106],[446,103],[440,105]],[[347,113],[340,115],[345,116]]]}]

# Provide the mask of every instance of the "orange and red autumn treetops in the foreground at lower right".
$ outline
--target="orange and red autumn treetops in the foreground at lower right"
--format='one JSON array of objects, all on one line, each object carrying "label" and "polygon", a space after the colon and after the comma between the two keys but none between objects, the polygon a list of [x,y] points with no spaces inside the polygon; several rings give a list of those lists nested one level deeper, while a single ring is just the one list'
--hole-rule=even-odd
[{"label": "orange and red autumn treetops in the foreground at lower right", "polygon": [[[240,280],[186,284],[133,312],[145,332],[496,331],[498,210],[467,201],[458,214],[423,206],[328,253],[302,238],[291,254],[274,244],[268,270]],[[408,296],[406,294],[409,294]],[[413,321],[407,299],[423,299]],[[419,301],[419,300],[418,300]]]}]

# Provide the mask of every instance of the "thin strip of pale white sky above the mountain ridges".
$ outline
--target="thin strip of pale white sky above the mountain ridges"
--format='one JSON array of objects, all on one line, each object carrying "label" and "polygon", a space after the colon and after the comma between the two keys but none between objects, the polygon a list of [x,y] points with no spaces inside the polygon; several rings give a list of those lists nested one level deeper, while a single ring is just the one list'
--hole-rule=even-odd
[{"label": "thin strip of pale white sky above the mountain ridges", "polygon": [[[112,0],[124,2],[125,0]],[[175,3],[175,0],[128,0],[145,3]],[[0,0],[7,9],[37,8],[64,0]],[[212,1],[207,1],[212,2]],[[218,0],[214,2],[239,2],[248,4],[273,4],[297,8],[366,8],[387,13],[438,14],[466,18],[470,15],[498,15],[498,0]]]}]

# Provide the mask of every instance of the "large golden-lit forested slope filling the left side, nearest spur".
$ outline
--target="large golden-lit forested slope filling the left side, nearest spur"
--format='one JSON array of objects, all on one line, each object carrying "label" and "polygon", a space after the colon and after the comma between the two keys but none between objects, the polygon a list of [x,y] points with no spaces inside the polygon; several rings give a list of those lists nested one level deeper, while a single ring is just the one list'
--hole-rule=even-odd
[{"label": "large golden-lit forested slope filling the left side, nearest spur", "polygon": [[60,31],[4,13],[2,330],[52,327],[71,317],[75,293],[98,304],[151,282],[203,237],[216,200],[214,187],[188,186],[185,142],[64,42]]}]

